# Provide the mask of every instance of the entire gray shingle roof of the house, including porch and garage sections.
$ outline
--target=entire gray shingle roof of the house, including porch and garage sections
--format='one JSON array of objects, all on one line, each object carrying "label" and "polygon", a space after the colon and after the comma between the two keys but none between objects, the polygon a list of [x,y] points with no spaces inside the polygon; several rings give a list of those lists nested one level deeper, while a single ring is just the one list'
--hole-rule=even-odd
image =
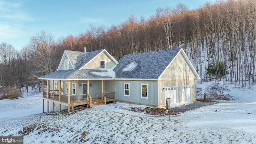
[{"label": "entire gray shingle roof of the house, including porch and garage sections", "polygon": [[79,70],[102,51],[76,52],[66,50],[75,70],[58,70],[42,76],[40,79],[157,79],[178,54],[180,48],[125,55],[114,68],[115,76],[107,70]]}]

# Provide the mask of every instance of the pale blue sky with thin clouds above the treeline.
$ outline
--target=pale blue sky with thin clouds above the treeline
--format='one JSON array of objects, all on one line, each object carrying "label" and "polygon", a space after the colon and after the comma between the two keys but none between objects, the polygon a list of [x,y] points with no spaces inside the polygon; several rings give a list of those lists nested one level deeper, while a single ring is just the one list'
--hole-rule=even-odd
[{"label": "pale blue sky with thin clouds above the treeline", "polygon": [[159,7],[183,3],[194,9],[206,2],[215,0],[0,0],[0,43],[21,50],[41,30],[58,40],[85,33],[91,24],[109,28],[130,15],[148,19]]}]

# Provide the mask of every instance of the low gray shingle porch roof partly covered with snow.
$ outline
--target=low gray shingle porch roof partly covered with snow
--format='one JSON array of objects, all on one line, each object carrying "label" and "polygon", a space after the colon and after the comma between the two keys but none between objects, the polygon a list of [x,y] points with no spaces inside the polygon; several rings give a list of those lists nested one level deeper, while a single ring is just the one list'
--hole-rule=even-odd
[{"label": "low gray shingle porch roof partly covered with snow", "polygon": [[112,70],[58,70],[50,74],[41,76],[41,80],[88,80],[88,79],[114,79],[115,74]]}]

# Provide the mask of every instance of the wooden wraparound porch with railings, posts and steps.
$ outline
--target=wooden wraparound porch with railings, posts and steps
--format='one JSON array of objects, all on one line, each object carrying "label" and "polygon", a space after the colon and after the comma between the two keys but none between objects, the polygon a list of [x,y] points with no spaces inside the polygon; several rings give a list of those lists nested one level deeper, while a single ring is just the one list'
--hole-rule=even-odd
[{"label": "wooden wraparound porch with railings, posts and steps", "polygon": [[[43,112],[44,112],[44,100],[47,100],[47,112],[49,112],[49,102],[53,103],[52,110],[54,110],[55,104],[59,104],[59,110],[61,111],[61,105],[68,107],[68,112],[70,112],[70,106],[79,106],[79,105],[87,105],[87,107],[94,107],[98,104],[106,104],[107,102],[111,102],[115,100],[115,89],[112,92],[104,92],[104,81],[101,80],[101,89],[97,88],[101,91],[101,97],[98,97],[98,94],[95,96],[91,96],[89,93],[90,87],[86,88],[87,94],[70,94],[72,88],[70,88],[70,81],[66,82],[67,85],[67,93],[63,94],[63,82],[61,80],[58,80],[59,83],[59,90],[55,86],[52,86],[53,90],[50,90],[49,86],[49,80],[46,80],[47,82],[47,90],[43,90]],[[56,82],[56,81],[55,81]],[[52,84],[55,84],[54,80],[52,81]],[[73,83],[72,83],[73,84]],[[79,82],[78,82],[79,84]],[[44,80],[43,80],[44,85]],[[86,86],[89,86],[89,80],[87,80]],[[114,82],[115,85],[115,82]],[[92,86],[92,85],[91,85]],[[115,87],[115,86],[114,86]],[[81,85],[80,85],[81,88]]]}]

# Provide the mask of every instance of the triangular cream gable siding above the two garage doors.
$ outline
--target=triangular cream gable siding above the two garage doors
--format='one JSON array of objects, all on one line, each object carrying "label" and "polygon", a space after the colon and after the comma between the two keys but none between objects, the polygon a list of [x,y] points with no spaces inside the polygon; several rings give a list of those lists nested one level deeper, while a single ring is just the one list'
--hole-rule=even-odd
[{"label": "triangular cream gable siding above the two garage doors", "polygon": [[164,74],[162,74],[160,80],[187,80],[194,78],[196,78],[196,76],[180,52]]}]

